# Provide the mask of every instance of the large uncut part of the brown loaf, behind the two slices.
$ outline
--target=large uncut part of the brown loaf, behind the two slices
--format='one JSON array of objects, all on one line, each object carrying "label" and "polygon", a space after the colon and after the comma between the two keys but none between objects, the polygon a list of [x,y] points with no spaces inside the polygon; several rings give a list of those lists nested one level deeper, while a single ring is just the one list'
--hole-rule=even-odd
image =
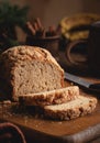
[{"label": "large uncut part of the brown loaf, behind the two slices", "polygon": [[64,70],[49,52],[34,46],[16,46],[0,55],[0,89],[18,100],[20,95],[64,87]]}]

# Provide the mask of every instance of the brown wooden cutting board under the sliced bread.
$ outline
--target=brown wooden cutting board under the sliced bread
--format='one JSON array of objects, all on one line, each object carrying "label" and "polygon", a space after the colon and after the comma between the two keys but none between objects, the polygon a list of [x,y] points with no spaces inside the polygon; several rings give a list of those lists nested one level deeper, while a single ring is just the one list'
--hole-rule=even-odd
[{"label": "brown wooden cutting board under the sliced bread", "polygon": [[27,143],[86,143],[100,138],[100,99],[95,112],[70,121],[53,121],[37,114],[10,113],[5,107],[3,110],[0,108],[0,121],[19,125]]}]

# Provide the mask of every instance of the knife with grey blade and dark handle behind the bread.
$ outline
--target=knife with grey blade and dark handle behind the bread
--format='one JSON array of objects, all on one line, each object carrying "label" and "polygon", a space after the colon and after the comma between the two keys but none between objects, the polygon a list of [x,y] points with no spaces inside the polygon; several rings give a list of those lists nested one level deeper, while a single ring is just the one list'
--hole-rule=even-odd
[{"label": "knife with grey blade and dark handle behind the bread", "polygon": [[91,81],[87,81],[78,76],[75,76],[73,74],[69,73],[65,73],[65,79],[75,82],[76,85],[86,88],[88,90],[91,91],[96,91],[100,94],[100,82],[91,82]]}]

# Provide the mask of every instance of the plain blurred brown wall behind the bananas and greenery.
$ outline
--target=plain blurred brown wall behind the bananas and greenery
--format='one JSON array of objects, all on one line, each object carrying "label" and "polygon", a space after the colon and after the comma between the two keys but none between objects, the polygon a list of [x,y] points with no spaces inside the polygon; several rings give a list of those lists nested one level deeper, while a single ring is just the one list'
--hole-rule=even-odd
[{"label": "plain blurred brown wall behind the bananas and greenery", "polygon": [[[2,0],[0,0],[2,1]],[[4,1],[4,0],[3,0]],[[8,0],[7,0],[8,1]],[[64,16],[75,13],[100,13],[100,0],[9,0],[12,4],[27,6],[29,19],[38,16],[45,26],[58,24]]]}]

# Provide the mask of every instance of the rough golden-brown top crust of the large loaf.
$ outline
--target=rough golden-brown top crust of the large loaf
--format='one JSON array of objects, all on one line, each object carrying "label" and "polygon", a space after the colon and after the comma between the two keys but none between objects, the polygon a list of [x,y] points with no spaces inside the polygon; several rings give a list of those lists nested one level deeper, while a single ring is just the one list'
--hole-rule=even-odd
[{"label": "rough golden-brown top crust of the large loaf", "polygon": [[3,52],[0,56],[0,59],[5,61],[11,61],[13,64],[19,61],[32,61],[32,59],[38,59],[42,62],[48,62],[57,66],[57,68],[64,74],[63,68],[58,65],[56,59],[51,55],[48,51],[42,47],[37,46],[14,46],[5,52]]}]

